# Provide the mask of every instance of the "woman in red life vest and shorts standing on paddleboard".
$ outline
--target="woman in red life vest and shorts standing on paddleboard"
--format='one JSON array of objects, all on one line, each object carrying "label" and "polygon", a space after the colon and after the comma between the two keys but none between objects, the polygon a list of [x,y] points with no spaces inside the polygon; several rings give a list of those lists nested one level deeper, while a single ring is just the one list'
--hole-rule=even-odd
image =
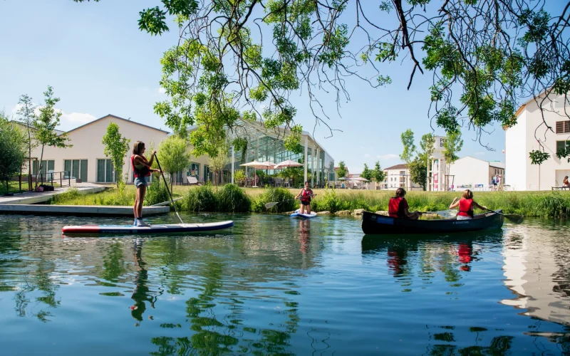
[{"label": "woman in red life vest and shorts standing on paddleboard", "polygon": [[143,153],[145,153],[145,143],[142,141],[135,142],[135,145],[133,145],[133,155],[130,156],[130,165],[135,174],[135,187],[137,188],[137,197],[135,198],[135,206],[133,206],[135,226],[149,226],[149,224],[142,221],[142,202],[145,201],[145,194],[147,192],[147,177],[150,176],[151,172],[160,172],[160,169],[150,168],[152,162],[155,160],[156,150],[152,151],[150,161],[142,155]]}]

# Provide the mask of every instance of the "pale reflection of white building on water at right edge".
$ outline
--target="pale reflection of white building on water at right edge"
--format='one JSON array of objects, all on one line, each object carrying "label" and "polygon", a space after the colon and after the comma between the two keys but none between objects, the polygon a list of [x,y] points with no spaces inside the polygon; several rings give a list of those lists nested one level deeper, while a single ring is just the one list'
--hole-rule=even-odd
[{"label": "pale reflection of white building on water at right edge", "polygon": [[570,298],[564,290],[570,281],[565,270],[566,246],[548,232],[521,226],[506,234],[502,252],[507,277],[504,283],[516,297],[501,303],[526,309],[524,315],[570,324]]}]

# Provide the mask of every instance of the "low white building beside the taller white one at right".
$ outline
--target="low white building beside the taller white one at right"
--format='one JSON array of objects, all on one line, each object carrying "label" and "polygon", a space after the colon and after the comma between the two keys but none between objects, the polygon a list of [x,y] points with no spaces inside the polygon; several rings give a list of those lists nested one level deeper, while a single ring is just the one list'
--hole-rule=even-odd
[{"label": "low white building beside the taller white one at right", "polygon": [[457,159],[450,167],[450,187],[455,190],[488,190],[494,175],[501,174],[504,182],[504,163],[487,162],[475,157],[465,156]]}]

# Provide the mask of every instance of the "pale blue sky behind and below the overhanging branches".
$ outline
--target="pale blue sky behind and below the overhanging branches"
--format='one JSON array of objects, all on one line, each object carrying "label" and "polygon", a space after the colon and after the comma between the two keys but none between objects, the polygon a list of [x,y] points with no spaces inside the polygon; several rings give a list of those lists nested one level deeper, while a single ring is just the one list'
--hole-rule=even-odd
[{"label": "pale blue sky behind and below the overhanging branches", "polygon": [[[63,112],[61,130],[107,114],[168,130],[153,105],[167,99],[159,85],[160,58],[177,43],[177,31],[171,26],[162,36],[150,36],[137,24],[139,11],[158,3],[0,0],[0,14],[4,14],[0,21],[0,110],[14,115],[22,94],[41,103],[43,91],[51,85],[61,98],[56,105]],[[330,117],[328,125],[338,130],[332,137],[326,127],[314,128],[306,95],[292,95],[298,108],[296,123],[314,132],[336,165],[344,161],[351,173],[361,172],[365,163],[373,167],[380,161],[383,168],[400,163],[400,134],[408,128],[418,147],[423,134],[434,132],[427,116],[431,73],[416,73],[412,87],[406,90],[412,70],[408,61],[383,68],[393,80],[386,87],[373,89],[361,80],[347,80],[351,100],[341,100],[340,115],[332,94],[320,93]],[[435,135],[444,135],[433,128]],[[475,131],[464,127],[460,157],[504,162],[504,131],[499,125],[490,130],[482,142],[494,151],[482,147]]]}]

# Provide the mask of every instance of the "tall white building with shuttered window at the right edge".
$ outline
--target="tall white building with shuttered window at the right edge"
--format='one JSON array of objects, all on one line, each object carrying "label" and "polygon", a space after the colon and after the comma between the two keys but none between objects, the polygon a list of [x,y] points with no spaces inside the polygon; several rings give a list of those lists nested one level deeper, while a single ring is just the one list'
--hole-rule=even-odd
[{"label": "tall white building with shuttered window at the right edge", "polygon": [[[564,145],[570,146],[566,141],[570,139],[570,120],[564,114],[564,96],[551,93],[542,103],[544,96],[540,95],[537,101],[543,108],[544,121],[554,132],[543,124],[542,112],[534,99],[517,111],[517,125],[504,130],[505,164],[509,167],[507,182],[514,190],[550,190],[560,187],[564,176],[570,176],[570,163],[556,157]],[[570,110],[568,104],[566,110]],[[531,164],[529,158],[529,152],[541,150],[537,140],[550,155],[540,166]]]}]

